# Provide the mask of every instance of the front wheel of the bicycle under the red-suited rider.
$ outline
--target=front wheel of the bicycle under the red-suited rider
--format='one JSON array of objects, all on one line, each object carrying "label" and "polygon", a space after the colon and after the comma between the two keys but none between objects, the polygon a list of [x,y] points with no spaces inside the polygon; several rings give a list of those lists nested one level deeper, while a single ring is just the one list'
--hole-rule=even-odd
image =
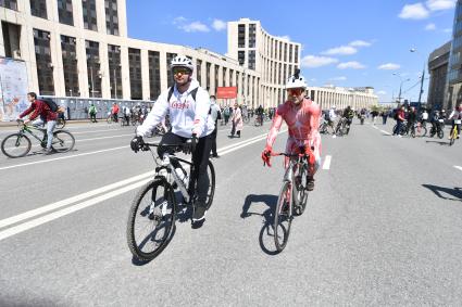
[{"label": "front wheel of the bicycle under the red-suited rider", "polygon": [[278,252],[286,247],[289,240],[292,223],[290,196],[290,182],[284,181],[274,214],[274,243]]}]

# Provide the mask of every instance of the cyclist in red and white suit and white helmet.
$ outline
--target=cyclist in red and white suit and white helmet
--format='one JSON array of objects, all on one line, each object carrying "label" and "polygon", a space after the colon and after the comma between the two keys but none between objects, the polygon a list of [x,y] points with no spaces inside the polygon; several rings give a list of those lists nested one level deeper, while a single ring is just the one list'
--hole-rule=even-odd
[{"label": "cyclist in red and white suit and white helmet", "polygon": [[[276,140],[283,120],[286,121],[289,127],[286,152],[300,153],[307,146],[313,149],[315,164],[310,165],[307,180],[307,190],[312,191],[314,189],[314,174],[321,165],[321,135],[317,130],[321,108],[315,102],[304,98],[307,84],[299,74],[300,71],[297,69],[296,74],[286,82],[288,100],[276,108],[273,124],[266,138],[266,146],[262,153],[262,159],[271,166],[270,158],[273,143]],[[286,167],[288,163],[289,159],[286,158]]]}]

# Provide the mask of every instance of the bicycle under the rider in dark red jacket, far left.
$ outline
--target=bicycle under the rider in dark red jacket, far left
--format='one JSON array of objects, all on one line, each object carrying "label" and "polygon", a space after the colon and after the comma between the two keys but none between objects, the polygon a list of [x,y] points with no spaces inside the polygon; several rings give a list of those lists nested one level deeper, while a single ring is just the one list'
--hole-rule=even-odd
[{"label": "bicycle under the rider in dark red jacket, far left", "polygon": [[[1,151],[4,155],[11,158],[15,158],[28,154],[32,148],[32,142],[30,139],[26,136],[26,133],[37,139],[40,142],[41,148],[47,148],[47,129],[25,125],[24,120],[17,120],[17,126],[20,127],[20,131],[17,133],[12,133],[8,136],[1,142]],[[40,138],[34,132],[34,130],[40,131],[43,136]],[[74,148],[74,144],[75,139],[70,131],[57,130],[53,132],[53,141],[51,143],[51,149],[54,152],[68,152]]]}]

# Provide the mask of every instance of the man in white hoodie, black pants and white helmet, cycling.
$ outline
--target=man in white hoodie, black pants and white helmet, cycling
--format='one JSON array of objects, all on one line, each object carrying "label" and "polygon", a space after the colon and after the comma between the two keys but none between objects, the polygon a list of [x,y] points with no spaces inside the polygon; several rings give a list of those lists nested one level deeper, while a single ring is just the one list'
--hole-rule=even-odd
[{"label": "man in white hoodie, black pants and white helmet, cycling", "polygon": [[[209,93],[192,79],[195,65],[192,61],[184,55],[175,56],[171,62],[174,86],[161,93],[152,111],[141,126],[137,128],[136,137],[132,140],[132,150],[137,152],[142,148],[142,137],[162,121],[170,114],[172,131],[162,136],[161,144],[184,145],[186,153],[192,153],[192,163],[197,179],[197,195],[195,202],[192,222],[201,222],[205,216],[205,201],[209,189],[209,176],[207,164],[211,151],[211,138],[215,124],[210,111]],[[172,149],[159,146],[160,157],[164,153],[173,154]],[[172,164],[174,162],[172,161]],[[179,165],[174,165],[179,168]],[[180,170],[180,169],[179,169]]]}]

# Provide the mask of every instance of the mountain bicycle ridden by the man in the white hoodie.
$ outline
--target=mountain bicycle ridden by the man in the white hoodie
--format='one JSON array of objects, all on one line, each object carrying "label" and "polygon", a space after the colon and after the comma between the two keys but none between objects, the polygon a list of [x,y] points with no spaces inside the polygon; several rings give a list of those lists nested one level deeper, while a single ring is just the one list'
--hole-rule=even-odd
[{"label": "mountain bicycle ridden by the man in the white hoodie", "polygon": [[[197,200],[196,177],[193,164],[189,161],[179,158],[174,154],[165,153],[162,161],[155,158],[150,148],[164,146],[172,148],[175,151],[183,150],[182,145],[166,145],[159,143],[145,143],[142,151],[151,151],[157,164],[155,176],[153,180],[145,184],[135,196],[128,214],[127,221],[127,243],[132,254],[140,260],[149,261],[155,258],[172,239],[175,228],[175,220],[179,209],[177,191],[183,196],[184,209],[192,208]],[[186,174],[186,179],[179,178],[172,161],[180,162],[189,166],[189,174],[182,166],[180,171]],[[208,174],[210,179],[205,206],[210,209],[215,193],[215,169],[212,162],[208,162]],[[190,176],[192,174],[192,176]],[[141,227],[137,228],[138,222]],[[145,234],[137,235],[141,232]],[[160,234],[160,236],[158,236]],[[147,245],[152,244],[148,251]]]}]

